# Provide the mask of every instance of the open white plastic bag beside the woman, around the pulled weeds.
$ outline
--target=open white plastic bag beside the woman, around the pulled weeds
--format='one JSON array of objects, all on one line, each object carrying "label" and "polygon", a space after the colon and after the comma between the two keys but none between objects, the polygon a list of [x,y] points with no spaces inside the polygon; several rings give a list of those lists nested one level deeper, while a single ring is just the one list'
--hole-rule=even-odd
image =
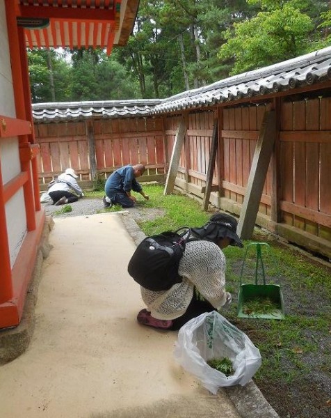
[{"label": "open white plastic bag beside the woman, around the pulled weeds", "polygon": [[[197,316],[181,327],[174,355],[212,394],[219,387],[246,385],[261,366],[261,355],[252,341],[217,311]],[[224,357],[232,361],[232,376],[207,364],[209,359]]]}]

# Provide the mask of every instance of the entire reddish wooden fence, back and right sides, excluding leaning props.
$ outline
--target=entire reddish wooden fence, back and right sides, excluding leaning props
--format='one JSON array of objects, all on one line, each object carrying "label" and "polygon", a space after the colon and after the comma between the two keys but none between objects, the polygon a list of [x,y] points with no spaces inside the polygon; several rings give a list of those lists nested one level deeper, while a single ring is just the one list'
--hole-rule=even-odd
[{"label": "entire reddish wooden fence, back and right sides, excluding leaning props", "polygon": [[[257,224],[331,258],[331,98],[278,103],[275,152]],[[81,181],[91,181],[138,162],[147,167],[141,180],[162,182],[184,118],[186,135],[175,185],[202,199],[218,120],[210,201],[239,215],[261,123],[271,104],[211,107],[158,118],[36,124],[40,183],[47,184],[66,167],[76,169]]]}]

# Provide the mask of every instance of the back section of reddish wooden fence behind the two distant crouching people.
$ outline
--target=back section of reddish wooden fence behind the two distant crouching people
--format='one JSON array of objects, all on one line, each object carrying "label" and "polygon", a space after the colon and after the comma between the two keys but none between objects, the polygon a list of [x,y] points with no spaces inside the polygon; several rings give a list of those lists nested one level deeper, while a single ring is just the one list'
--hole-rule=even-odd
[{"label": "back section of reddish wooden fence behind the two distant crouching people", "polygon": [[83,185],[126,164],[145,164],[142,180],[164,180],[165,140],[162,118],[99,119],[35,124],[40,144],[41,189],[67,167]]}]

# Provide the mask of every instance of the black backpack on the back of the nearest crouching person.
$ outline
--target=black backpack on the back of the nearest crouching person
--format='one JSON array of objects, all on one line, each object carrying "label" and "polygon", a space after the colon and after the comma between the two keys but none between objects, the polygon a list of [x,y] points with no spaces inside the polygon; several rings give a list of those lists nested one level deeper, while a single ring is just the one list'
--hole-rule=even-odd
[{"label": "black backpack on the back of the nearest crouching person", "polygon": [[131,257],[128,272],[134,280],[150,291],[166,291],[181,282],[179,260],[183,255],[191,231],[165,231],[146,237]]}]

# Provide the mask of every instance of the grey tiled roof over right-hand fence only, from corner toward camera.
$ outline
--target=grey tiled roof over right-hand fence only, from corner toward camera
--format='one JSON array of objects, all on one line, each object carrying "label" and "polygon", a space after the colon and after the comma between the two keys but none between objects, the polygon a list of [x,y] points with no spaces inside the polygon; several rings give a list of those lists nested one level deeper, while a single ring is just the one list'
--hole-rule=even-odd
[{"label": "grey tiled roof over right-hand fence only, from corner toward camera", "polygon": [[163,100],[152,111],[164,113],[219,102],[235,102],[242,98],[291,91],[325,79],[331,79],[331,47],[185,91]]}]

